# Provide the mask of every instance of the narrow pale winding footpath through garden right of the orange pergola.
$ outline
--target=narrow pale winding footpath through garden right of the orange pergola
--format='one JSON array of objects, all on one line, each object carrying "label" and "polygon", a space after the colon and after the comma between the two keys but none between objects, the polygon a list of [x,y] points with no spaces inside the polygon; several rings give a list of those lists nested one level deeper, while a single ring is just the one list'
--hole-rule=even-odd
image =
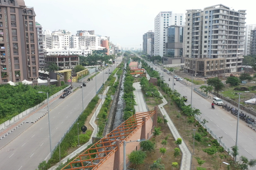
[{"label": "narrow pale winding footpath through garden right of the orange pergola", "polygon": [[[160,93],[160,91],[159,91]],[[160,93],[162,96],[162,94]],[[158,108],[160,109],[160,112],[163,116],[166,116],[166,119],[168,120],[167,125],[169,129],[172,132],[172,135],[175,140],[182,137],[180,136],[178,130],[176,129],[175,125],[173,124],[172,120],[170,119],[169,115],[167,114],[166,110],[163,108],[164,105],[166,105],[168,102],[165,98],[162,99],[163,103],[158,105]],[[182,158],[181,158],[181,164],[180,164],[180,170],[190,170],[191,162],[192,162],[192,154],[190,153],[188,147],[184,142],[182,142],[180,145],[180,151],[182,152]]]}]

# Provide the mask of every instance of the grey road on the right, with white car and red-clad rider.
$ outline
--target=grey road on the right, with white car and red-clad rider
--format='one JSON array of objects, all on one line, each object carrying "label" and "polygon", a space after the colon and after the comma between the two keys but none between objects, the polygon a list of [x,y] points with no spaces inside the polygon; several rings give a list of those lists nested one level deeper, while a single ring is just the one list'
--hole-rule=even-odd
[{"label": "grey road on the right, with white car and red-clad rider", "polygon": [[[149,64],[149,62],[148,62]],[[152,63],[150,63],[152,67]],[[153,65],[153,68],[157,68],[161,76],[164,76],[164,80],[172,88],[173,77],[166,72],[161,71],[160,68]],[[169,78],[171,81],[169,82]],[[191,86],[186,86],[177,82],[174,89],[177,90],[181,96],[185,95],[188,97],[186,105],[191,102]],[[192,94],[192,106],[198,108],[201,111],[201,119],[207,119],[209,121],[207,126],[219,137],[223,136],[221,139],[227,147],[232,147],[236,144],[236,122],[237,117],[233,116],[230,112],[224,111],[222,107],[215,105],[215,109],[211,109],[212,100],[204,99],[198,94]],[[200,117],[201,117],[200,116]],[[246,156],[248,159],[256,159],[256,132],[251,128],[247,127],[246,123],[239,119],[239,133],[238,133],[238,147],[239,156]],[[256,167],[251,168],[251,170],[256,170]]]}]

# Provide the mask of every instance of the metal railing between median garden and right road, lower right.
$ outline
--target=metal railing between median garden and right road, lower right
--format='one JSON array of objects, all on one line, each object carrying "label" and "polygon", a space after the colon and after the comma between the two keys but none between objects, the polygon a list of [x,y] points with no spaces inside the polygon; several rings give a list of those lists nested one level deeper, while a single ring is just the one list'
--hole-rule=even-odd
[{"label": "metal railing between median garden and right road, lower right", "polygon": [[[200,120],[201,118],[199,119],[198,116],[195,115],[195,119],[196,119],[205,129],[207,129],[207,132],[209,132],[209,133],[211,134],[211,136],[212,136],[214,139],[216,139],[216,140],[218,141],[218,143],[224,148],[224,150],[226,150],[227,153],[230,155],[230,152],[232,151],[232,149],[230,149],[229,147],[227,147],[227,146],[224,144],[224,142],[221,141],[221,138],[218,137],[214,132],[212,132],[212,130],[210,130],[210,128],[207,127],[207,125],[203,124],[203,123],[201,122],[201,120]],[[231,156],[232,158],[234,158],[233,155],[230,155],[230,156]],[[241,161],[240,158],[238,158],[237,161],[238,161],[239,164],[242,164],[242,161]],[[251,169],[248,168],[247,170],[251,170]]]}]

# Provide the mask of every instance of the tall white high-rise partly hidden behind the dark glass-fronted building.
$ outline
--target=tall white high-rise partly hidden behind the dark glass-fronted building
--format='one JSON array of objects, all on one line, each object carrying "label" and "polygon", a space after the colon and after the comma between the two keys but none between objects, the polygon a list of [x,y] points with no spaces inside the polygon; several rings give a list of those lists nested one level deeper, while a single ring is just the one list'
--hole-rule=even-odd
[{"label": "tall white high-rise partly hidden behind the dark glass-fronted building", "polygon": [[154,55],[165,56],[166,27],[182,26],[183,14],[172,14],[172,11],[161,11],[154,19]]}]

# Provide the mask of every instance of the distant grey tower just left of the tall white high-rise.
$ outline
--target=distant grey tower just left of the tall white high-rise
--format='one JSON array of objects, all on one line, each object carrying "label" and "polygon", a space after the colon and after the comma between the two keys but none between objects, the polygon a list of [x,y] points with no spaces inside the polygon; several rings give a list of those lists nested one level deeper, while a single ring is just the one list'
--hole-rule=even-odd
[{"label": "distant grey tower just left of the tall white high-rise", "polygon": [[150,56],[154,55],[154,32],[148,31],[143,35],[143,52]]}]

